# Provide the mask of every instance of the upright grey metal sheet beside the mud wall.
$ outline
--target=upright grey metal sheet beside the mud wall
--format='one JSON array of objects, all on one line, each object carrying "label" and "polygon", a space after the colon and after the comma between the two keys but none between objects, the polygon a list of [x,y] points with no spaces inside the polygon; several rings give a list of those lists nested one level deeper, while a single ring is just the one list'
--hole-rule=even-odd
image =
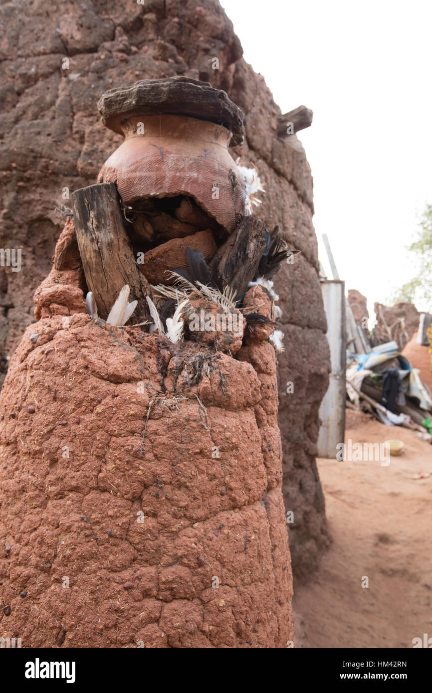
[{"label": "upright grey metal sheet beside the mud wall", "polygon": [[318,456],[336,458],[336,446],[345,437],[345,283],[322,281],[322,299],[327,316],[327,341],[330,347],[329,387],[320,406],[322,421],[318,435]]}]

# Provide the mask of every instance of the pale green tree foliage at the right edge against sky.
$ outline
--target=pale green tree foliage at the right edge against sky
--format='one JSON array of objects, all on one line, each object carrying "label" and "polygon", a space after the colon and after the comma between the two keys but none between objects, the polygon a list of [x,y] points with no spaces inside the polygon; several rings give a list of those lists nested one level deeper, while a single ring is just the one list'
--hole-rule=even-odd
[{"label": "pale green tree foliage at the right edge against sky", "polygon": [[415,277],[397,289],[391,297],[394,303],[418,301],[429,310],[432,308],[432,204],[426,204],[426,209],[420,217],[419,229],[415,240],[406,247],[417,266]]}]

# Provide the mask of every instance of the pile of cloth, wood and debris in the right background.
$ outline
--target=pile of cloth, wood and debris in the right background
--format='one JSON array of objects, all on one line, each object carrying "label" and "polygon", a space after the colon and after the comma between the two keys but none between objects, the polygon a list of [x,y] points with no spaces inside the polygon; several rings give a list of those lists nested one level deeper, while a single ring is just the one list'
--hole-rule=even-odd
[{"label": "pile of cloth, wood and debris in the right background", "polygon": [[386,423],[416,430],[432,441],[432,315],[413,304],[389,308],[375,303],[376,324],[368,328],[367,299],[348,291],[347,406],[362,407]]}]

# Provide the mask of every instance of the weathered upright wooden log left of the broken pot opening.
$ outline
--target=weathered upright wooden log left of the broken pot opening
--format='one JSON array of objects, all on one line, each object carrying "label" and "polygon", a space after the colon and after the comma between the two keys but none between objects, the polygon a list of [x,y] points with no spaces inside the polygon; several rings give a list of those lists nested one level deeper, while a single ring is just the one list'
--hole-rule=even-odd
[{"label": "weathered upright wooden log left of the broken pot opening", "polygon": [[141,322],[148,317],[148,284],[139,272],[123,226],[116,185],[99,183],[80,188],[71,199],[85,279],[99,317],[107,318],[121,288],[128,284],[130,301],[138,301],[133,322]]}]

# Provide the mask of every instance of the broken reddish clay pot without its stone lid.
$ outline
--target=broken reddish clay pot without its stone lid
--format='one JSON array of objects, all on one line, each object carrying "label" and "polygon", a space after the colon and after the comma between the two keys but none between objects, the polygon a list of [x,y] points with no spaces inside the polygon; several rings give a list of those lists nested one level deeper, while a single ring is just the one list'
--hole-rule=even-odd
[{"label": "broken reddish clay pot without its stone lid", "polygon": [[[137,134],[144,123],[144,134]],[[148,197],[191,195],[229,233],[243,213],[243,182],[228,152],[231,133],[187,116],[132,116],[125,141],[98,175],[116,182],[126,204]]]}]

